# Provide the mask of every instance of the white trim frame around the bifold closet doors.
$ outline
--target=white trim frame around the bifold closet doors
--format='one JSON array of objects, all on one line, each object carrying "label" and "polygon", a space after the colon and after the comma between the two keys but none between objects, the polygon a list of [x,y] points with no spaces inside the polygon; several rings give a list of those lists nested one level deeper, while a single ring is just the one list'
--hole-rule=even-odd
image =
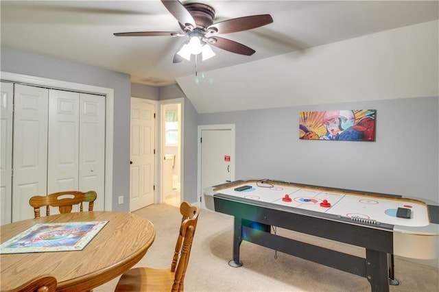
[{"label": "white trim frame around the bifold closet doors", "polygon": [[104,210],[112,210],[112,157],[113,157],[113,121],[114,121],[114,89],[75,82],[66,82],[31,75],[16,74],[10,72],[0,72],[0,79],[5,82],[23,83],[30,86],[43,86],[47,88],[59,88],[84,93],[95,93],[105,96],[105,195]]}]

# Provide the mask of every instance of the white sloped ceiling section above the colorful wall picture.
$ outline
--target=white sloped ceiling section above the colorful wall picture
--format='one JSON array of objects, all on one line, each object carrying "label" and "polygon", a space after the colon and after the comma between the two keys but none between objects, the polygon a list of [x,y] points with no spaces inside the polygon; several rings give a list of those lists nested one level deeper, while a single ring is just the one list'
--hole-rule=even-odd
[{"label": "white sloped ceiling section above the colorful wall picture", "polygon": [[438,97],[438,45],[429,21],[177,82],[199,113]]}]

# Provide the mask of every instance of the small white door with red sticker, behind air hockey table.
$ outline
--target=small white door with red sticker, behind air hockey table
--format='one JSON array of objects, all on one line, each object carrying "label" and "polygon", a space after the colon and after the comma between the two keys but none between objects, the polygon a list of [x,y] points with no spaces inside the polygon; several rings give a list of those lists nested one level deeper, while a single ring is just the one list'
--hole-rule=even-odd
[{"label": "small white door with red sticker, behind air hockey table", "polygon": [[201,195],[207,186],[234,180],[234,147],[231,129],[201,130]]}]

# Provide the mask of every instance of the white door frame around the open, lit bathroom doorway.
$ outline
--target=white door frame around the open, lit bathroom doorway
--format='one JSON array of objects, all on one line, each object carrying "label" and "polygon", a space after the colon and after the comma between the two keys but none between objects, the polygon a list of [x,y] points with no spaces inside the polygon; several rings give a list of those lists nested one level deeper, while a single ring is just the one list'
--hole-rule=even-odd
[{"label": "white door frame around the open, lit bathroom doorway", "polygon": [[160,184],[158,187],[158,190],[156,188],[156,199],[155,202],[156,204],[162,204],[163,202],[165,202],[165,198],[164,198],[164,194],[163,194],[163,184],[164,184],[164,180],[163,180],[163,168],[164,168],[164,162],[165,160],[163,160],[163,156],[165,155],[164,152],[164,148],[165,148],[165,137],[164,137],[164,133],[165,133],[165,116],[163,114],[163,109],[164,106],[167,104],[180,104],[180,132],[178,134],[180,134],[180,202],[183,202],[184,198],[185,198],[185,180],[183,180],[182,178],[185,177],[185,98],[184,97],[180,97],[180,98],[176,98],[176,99],[165,99],[163,101],[159,101],[158,104],[160,105],[160,110],[158,110],[158,121],[159,121],[159,137],[158,137],[158,161],[160,161],[159,163],[156,163],[156,167],[158,167],[157,173],[160,173]]}]

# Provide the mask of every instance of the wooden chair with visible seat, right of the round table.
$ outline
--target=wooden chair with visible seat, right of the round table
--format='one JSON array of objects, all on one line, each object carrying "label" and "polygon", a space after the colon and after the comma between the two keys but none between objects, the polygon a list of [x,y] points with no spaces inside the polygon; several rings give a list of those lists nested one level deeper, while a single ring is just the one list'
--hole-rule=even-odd
[{"label": "wooden chair with visible seat, right of the round table", "polygon": [[171,269],[150,267],[130,269],[121,276],[115,291],[183,291],[183,282],[200,208],[182,202],[180,213],[182,214],[182,222]]}]

